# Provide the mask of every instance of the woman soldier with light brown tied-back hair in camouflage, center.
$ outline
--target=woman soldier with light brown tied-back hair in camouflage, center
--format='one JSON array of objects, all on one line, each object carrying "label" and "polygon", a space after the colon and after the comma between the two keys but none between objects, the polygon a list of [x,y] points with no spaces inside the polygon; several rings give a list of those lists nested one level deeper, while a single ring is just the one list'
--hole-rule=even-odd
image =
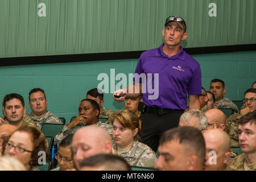
[{"label": "woman soldier with light brown tied-back hair in camouflage, center", "polygon": [[158,159],[154,151],[146,144],[138,142],[142,121],[130,110],[114,113],[110,118],[113,125],[113,146],[117,155],[122,156],[130,166],[154,167]]}]

